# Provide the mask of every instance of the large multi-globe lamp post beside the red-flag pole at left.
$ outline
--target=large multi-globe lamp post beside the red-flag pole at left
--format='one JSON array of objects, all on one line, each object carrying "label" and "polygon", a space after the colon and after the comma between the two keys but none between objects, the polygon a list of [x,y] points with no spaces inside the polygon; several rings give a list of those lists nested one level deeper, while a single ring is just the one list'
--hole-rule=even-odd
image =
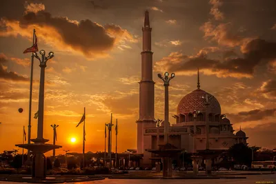
[{"label": "large multi-globe lamp post beside the red-flag pole at left", "polygon": [[37,141],[45,143],[43,139],[43,114],[44,114],[44,84],[45,84],[45,68],[46,63],[49,59],[54,57],[54,52],[49,52],[48,57],[45,56],[45,50],[40,50],[41,59],[37,56],[37,52],[33,52],[32,55],[37,58],[40,62],[40,84],[39,84],[39,116],[38,116],[38,125],[37,125]]}]

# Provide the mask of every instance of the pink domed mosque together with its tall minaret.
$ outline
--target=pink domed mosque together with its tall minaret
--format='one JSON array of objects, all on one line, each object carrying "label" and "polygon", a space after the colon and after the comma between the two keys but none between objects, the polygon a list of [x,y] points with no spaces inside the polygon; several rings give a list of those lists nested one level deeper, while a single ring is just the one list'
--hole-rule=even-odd
[{"label": "pink domed mosque together with its tall minaret", "polygon": [[[143,50],[141,52],[141,81],[139,82],[139,119],[137,123],[137,154],[143,156],[141,167],[152,167],[157,155],[147,152],[164,144],[164,123],[157,127],[155,119],[155,82],[152,81],[151,30],[148,11],[145,12]],[[164,71],[166,72],[166,71]],[[208,98],[208,104],[206,99]],[[219,101],[200,87],[199,71],[197,88],[186,94],[173,116],[175,124],[169,127],[169,143],[188,153],[202,150],[228,150],[236,143],[246,143],[245,132],[233,132],[233,124],[221,114]],[[157,139],[159,136],[159,139]],[[157,141],[159,140],[159,141]]]}]

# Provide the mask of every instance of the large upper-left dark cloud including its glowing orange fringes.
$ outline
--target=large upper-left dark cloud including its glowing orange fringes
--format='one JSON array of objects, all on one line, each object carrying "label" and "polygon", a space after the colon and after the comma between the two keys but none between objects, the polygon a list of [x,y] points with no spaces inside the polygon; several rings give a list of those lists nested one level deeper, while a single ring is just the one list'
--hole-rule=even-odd
[{"label": "large upper-left dark cloud including its glowing orange fringes", "polygon": [[[71,48],[86,55],[86,57],[95,57],[97,55],[106,55],[106,51],[111,50],[119,39],[127,38],[127,41],[135,41],[132,35],[123,30],[119,25],[108,25],[104,28],[98,23],[88,19],[81,21],[70,20],[67,17],[52,17],[52,14],[45,11],[42,3],[31,3],[26,7],[26,12],[17,21],[12,19],[3,19],[2,35],[22,34],[25,32],[30,37],[27,30],[30,25],[38,25],[37,35],[47,42],[54,43],[58,48]],[[9,23],[12,23],[8,25]]]}]

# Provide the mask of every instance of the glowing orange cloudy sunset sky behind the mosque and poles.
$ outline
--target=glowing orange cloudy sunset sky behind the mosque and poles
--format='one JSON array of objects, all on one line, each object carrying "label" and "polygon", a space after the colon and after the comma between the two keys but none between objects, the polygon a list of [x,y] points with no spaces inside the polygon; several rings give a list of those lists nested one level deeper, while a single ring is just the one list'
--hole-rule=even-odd
[{"label": "glowing orange cloudy sunset sky behind the mosque and poles", "polygon": [[[118,151],[136,149],[141,27],[149,10],[155,119],[164,119],[159,72],[175,72],[170,115],[196,89],[213,94],[249,145],[276,147],[276,1],[274,0],[4,0],[0,2],[0,152],[28,131],[32,30],[39,50],[55,52],[46,68],[44,138],[82,152],[103,151],[104,123],[118,119]],[[39,61],[34,60],[32,117],[38,108]],[[23,108],[23,112],[18,112]],[[170,116],[170,121],[175,122]],[[37,120],[32,118],[32,138]],[[70,139],[77,141],[72,144]],[[115,136],[113,136],[115,138]],[[114,139],[115,147],[115,139]],[[49,152],[48,154],[51,154]]]}]

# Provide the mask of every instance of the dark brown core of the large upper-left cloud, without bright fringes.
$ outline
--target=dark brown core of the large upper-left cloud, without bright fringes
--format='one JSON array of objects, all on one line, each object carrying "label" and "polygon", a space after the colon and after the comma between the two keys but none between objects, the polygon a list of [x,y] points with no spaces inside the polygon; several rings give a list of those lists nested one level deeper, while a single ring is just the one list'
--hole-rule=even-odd
[{"label": "dark brown core of the large upper-left cloud, without bright fringes", "polygon": [[66,45],[85,54],[110,50],[115,43],[101,25],[88,19],[74,23],[66,17],[52,17],[50,13],[40,11],[37,14],[29,12],[23,17],[21,26],[30,24],[55,28]]}]

